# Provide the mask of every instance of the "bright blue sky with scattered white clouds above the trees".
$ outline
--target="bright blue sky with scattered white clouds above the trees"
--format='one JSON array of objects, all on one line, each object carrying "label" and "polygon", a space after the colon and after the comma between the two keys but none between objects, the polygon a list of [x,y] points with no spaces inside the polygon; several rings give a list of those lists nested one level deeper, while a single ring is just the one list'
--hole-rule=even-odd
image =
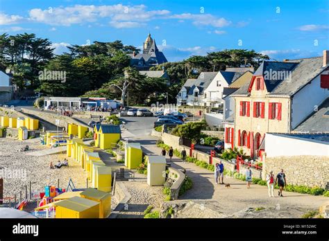
[{"label": "bright blue sky with scattered white clouds above the trees", "polygon": [[0,0],[4,32],[47,37],[56,53],[95,40],[142,46],[150,32],[169,61],[225,48],[293,59],[329,49],[329,1]]}]

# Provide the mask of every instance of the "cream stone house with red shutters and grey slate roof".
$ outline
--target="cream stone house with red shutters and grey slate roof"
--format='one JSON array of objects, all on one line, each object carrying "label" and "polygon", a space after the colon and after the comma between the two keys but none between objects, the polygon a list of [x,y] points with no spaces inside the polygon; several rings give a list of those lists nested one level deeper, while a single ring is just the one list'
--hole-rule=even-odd
[{"label": "cream stone house with red shutters and grey slate roof", "polygon": [[[267,133],[291,133],[329,97],[328,51],[323,57],[263,62],[251,82],[232,94],[234,118],[225,120],[225,148],[262,157]],[[233,120],[232,120],[233,119]]]}]

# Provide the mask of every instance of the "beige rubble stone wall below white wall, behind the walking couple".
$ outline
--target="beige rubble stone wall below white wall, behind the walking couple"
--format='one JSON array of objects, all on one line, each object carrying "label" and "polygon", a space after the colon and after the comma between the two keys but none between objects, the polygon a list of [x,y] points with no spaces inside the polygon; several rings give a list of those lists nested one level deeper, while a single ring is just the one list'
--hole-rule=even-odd
[{"label": "beige rubble stone wall below white wall, behind the walking couple", "polygon": [[329,157],[267,157],[263,161],[263,179],[271,170],[276,175],[281,168],[288,184],[326,188],[329,181]]}]

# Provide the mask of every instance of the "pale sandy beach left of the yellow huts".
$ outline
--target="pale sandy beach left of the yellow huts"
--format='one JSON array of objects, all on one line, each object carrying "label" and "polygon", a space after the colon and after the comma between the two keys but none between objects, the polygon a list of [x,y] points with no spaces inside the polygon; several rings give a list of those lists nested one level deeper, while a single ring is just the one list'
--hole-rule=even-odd
[{"label": "pale sandy beach left of the yellow huts", "polygon": [[[19,152],[26,145],[27,152]],[[53,154],[45,157],[33,157],[28,152],[47,149],[41,145],[39,139],[26,141],[15,141],[12,139],[0,139],[0,168],[5,169],[3,176],[3,197],[19,198],[19,191],[22,190],[22,197],[25,197],[25,186],[29,191],[29,183],[32,181],[31,190],[44,192],[44,186],[54,185],[57,187],[60,179],[60,188],[67,188],[71,178],[76,188],[86,188],[87,172],[79,163],[73,159],[69,160],[69,167],[60,169],[49,169],[50,161],[55,165],[58,160],[63,161],[66,153]]]}]

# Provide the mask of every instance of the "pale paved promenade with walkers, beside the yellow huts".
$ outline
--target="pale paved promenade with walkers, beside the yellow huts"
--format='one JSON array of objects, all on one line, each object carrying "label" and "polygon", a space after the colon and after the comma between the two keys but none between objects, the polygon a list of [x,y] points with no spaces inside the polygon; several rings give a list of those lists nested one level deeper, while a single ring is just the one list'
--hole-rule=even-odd
[{"label": "pale paved promenade with walkers, beside the yellow huts", "polygon": [[[133,120],[128,123],[128,131],[123,132],[122,136],[141,143],[146,154],[159,155],[161,150],[156,146],[157,139],[147,134],[151,131],[149,121],[142,118]],[[187,191],[180,199],[194,200],[201,204],[215,204],[226,215],[232,215],[249,207],[274,209],[279,207],[282,212],[274,211],[269,213],[268,217],[301,217],[305,210],[318,210],[319,206],[328,201],[328,197],[291,192],[284,192],[285,197],[278,197],[278,190],[274,193],[276,197],[269,197],[266,186],[251,184],[251,189],[247,189],[245,181],[232,177],[225,177],[224,182],[230,184],[230,188],[225,188],[224,185],[214,183],[214,172],[200,168],[194,163],[182,163],[180,159],[174,158],[171,166],[184,168],[193,181],[192,190]]]}]

